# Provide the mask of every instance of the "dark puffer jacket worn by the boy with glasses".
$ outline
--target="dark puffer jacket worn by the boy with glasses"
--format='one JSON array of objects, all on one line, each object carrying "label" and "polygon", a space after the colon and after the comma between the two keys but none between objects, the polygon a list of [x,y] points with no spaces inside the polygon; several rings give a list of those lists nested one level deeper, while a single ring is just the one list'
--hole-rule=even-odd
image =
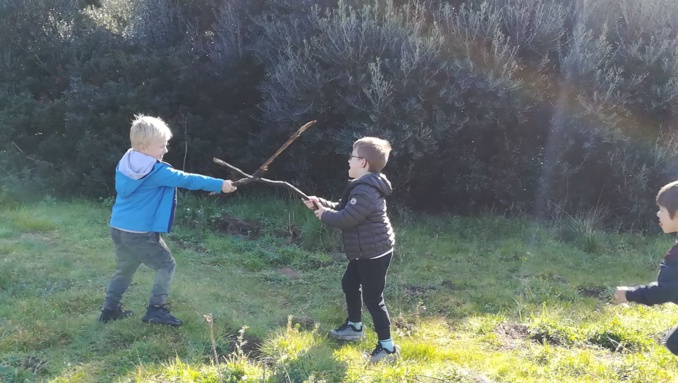
[{"label": "dark puffer jacket worn by the boy with glasses", "polygon": [[351,181],[339,202],[320,199],[327,207],[321,220],[341,229],[344,253],[349,260],[374,258],[393,250],[395,234],[386,214],[385,198],[391,182],[381,173]]}]

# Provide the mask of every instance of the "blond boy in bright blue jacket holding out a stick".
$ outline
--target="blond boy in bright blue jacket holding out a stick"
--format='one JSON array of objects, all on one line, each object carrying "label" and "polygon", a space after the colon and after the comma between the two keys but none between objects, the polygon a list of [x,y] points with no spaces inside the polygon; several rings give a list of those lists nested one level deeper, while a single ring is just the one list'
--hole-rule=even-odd
[{"label": "blond boy in bright blue jacket holding out a stick", "polygon": [[165,308],[176,263],[161,233],[169,233],[177,205],[176,188],[231,193],[229,180],[185,173],[173,169],[162,157],[172,133],[161,119],[139,115],[132,122],[132,147],[115,170],[118,193],[111,215],[111,238],[115,248],[115,273],[106,288],[99,321],[123,319],[133,314],[123,310],[122,295],[143,263],[155,270],[153,289],[144,323],[181,326]]}]

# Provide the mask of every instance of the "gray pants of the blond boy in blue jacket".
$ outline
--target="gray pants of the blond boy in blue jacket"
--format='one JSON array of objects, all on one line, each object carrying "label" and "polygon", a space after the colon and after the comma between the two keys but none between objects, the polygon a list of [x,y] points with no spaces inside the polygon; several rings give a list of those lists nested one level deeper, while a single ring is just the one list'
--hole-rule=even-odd
[{"label": "gray pants of the blond boy in blue jacket", "polygon": [[103,308],[116,310],[120,307],[122,295],[142,263],[155,270],[149,305],[167,303],[176,262],[160,233],[130,233],[111,228],[111,238],[115,247],[115,273],[108,282]]}]

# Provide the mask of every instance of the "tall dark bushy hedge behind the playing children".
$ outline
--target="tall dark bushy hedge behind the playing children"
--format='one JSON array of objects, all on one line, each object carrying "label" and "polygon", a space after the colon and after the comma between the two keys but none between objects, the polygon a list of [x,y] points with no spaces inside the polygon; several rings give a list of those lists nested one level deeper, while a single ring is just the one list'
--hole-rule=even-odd
[{"label": "tall dark bushy hedge behind the playing children", "polygon": [[5,195],[110,196],[135,113],[175,167],[255,169],[334,194],[352,141],[394,146],[395,200],[426,211],[653,222],[678,175],[670,0],[5,0]]}]

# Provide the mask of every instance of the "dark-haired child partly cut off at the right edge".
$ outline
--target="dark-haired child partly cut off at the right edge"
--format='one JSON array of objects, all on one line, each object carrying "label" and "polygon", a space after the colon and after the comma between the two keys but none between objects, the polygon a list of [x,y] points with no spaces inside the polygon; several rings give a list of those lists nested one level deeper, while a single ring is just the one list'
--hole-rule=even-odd
[{"label": "dark-haired child partly cut off at the right edge", "polygon": [[[678,232],[678,181],[671,182],[659,190],[657,194],[657,217],[664,233]],[[617,286],[614,293],[614,304],[636,302],[647,306],[660,303],[678,304],[678,244],[664,255],[659,263],[657,281],[640,286]],[[664,345],[674,355],[678,355],[678,326],[669,331]]]}]

